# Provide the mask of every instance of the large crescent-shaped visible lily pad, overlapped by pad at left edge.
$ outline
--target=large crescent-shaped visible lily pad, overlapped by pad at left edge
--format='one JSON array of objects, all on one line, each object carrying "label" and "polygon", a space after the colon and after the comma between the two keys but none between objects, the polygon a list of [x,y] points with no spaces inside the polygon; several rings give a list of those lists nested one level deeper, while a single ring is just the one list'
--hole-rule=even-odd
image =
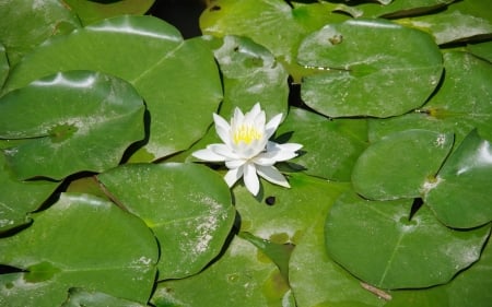
[{"label": "large crescent-shaped visible lily pad, overlapped by pad at left edge", "polygon": [[[144,56],[142,56],[144,55]],[[153,161],[187,149],[207,131],[222,99],[212,51],[184,40],[152,16],[118,16],[58,37],[12,70],[5,91],[57,71],[87,69],[130,82],[149,109],[149,140],[132,161]]]}]

